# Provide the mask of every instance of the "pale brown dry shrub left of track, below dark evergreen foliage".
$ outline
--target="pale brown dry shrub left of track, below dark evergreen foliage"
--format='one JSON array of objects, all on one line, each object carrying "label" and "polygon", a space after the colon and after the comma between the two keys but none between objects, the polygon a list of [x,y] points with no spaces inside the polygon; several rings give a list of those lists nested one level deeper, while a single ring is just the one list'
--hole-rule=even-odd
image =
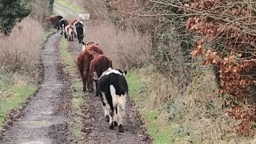
[{"label": "pale brown dry shrub left of track, below dark evergreen foliage", "polygon": [[18,23],[9,37],[0,36],[0,67],[32,74],[42,48],[42,26],[32,18]]}]

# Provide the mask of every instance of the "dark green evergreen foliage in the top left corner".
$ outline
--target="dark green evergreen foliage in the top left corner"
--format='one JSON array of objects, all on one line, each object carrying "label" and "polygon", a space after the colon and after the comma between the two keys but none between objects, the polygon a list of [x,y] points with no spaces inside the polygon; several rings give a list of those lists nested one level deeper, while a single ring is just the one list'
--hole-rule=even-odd
[{"label": "dark green evergreen foliage in the top left corner", "polygon": [[30,14],[30,9],[22,0],[0,0],[0,30],[9,35],[16,22],[21,22]]}]

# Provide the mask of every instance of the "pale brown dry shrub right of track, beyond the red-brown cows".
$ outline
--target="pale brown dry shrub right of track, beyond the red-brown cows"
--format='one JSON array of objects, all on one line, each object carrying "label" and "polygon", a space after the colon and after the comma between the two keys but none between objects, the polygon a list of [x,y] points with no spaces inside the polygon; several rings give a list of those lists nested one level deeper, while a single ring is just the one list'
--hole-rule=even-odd
[{"label": "pale brown dry shrub right of track, beyond the red-brown cows", "polygon": [[150,58],[150,35],[137,30],[117,30],[106,21],[93,21],[86,31],[86,41],[98,42],[114,66],[130,69],[142,66]]}]

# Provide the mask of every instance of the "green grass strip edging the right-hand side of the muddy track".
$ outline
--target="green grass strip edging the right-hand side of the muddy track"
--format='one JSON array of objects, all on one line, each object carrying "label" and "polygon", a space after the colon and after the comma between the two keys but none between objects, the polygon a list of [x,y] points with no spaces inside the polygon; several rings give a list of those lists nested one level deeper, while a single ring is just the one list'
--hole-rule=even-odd
[{"label": "green grass strip edging the right-hand side of the muddy track", "polygon": [[142,119],[145,122],[146,128],[150,136],[154,139],[155,144],[171,144],[170,134],[174,130],[174,124],[170,122],[163,122],[159,118],[160,112],[158,110],[145,110],[142,109],[146,106],[147,100],[145,93],[142,90],[142,82],[137,74],[138,71],[129,71],[126,75],[126,80],[129,86],[130,98],[132,98],[138,106],[138,110],[142,114]]}]

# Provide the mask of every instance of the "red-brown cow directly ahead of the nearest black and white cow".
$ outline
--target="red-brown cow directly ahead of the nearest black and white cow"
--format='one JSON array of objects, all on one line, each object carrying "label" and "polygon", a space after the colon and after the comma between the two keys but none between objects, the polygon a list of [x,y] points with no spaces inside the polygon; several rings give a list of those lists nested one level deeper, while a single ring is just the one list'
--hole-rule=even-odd
[{"label": "red-brown cow directly ahead of the nearest black and white cow", "polygon": [[[90,62],[90,74],[94,79],[96,87],[98,84],[98,78],[100,78],[102,73],[110,67],[113,68],[110,58],[106,57],[104,54],[94,54],[94,59]],[[96,96],[98,96],[97,92]]]}]

